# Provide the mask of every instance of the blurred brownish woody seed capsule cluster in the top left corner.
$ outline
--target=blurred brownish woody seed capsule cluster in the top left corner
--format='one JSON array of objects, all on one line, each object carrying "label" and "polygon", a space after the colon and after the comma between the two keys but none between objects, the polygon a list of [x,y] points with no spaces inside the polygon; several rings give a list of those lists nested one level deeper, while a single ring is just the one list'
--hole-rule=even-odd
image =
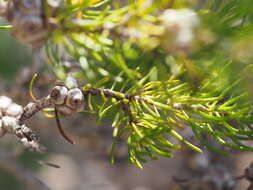
[{"label": "blurred brownish woody seed capsule cluster in the top left corner", "polygon": [[41,0],[8,1],[6,18],[13,26],[13,36],[23,44],[39,48],[47,31],[42,19]]}]

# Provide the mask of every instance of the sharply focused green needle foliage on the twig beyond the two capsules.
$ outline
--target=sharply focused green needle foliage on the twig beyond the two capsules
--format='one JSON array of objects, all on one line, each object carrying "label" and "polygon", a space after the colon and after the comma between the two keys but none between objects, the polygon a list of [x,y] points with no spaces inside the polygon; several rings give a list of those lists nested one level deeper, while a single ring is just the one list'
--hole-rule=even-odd
[{"label": "sharply focused green needle foliage on the twig beyond the two capsules", "polygon": [[[88,96],[89,108],[94,111],[96,107],[99,119],[106,117],[112,110],[116,113],[112,123],[112,163],[117,141],[126,134],[129,161],[140,168],[140,162],[146,162],[147,158],[157,159],[157,155],[171,157],[173,149],[179,149],[181,144],[201,152],[179,134],[188,127],[191,127],[203,145],[217,152],[223,153],[212,147],[205,140],[206,136],[225,147],[253,150],[240,142],[252,139],[252,106],[248,94],[233,94],[226,98],[231,88],[237,86],[242,79],[222,91],[210,90],[210,84],[206,84],[199,91],[193,92],[189,84],[173,77],[167,81],[146,82],[153,72],[154,70],[142,77],[137,82],[138,85],[126,90],[127,94],[115,91],[108,93],[108,90],[100,89],[101,105],[93,105],[92,98]],[[86,85],[83,92],[87,94],[90,89],[93,89],[91,85]]]}]

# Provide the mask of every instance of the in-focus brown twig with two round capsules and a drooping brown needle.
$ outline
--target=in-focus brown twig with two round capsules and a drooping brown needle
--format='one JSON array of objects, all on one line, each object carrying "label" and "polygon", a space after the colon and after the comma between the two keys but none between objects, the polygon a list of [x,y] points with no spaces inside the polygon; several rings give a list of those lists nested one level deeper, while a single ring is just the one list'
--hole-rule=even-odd
[{"label": "in-focus brown twig with two round capsules and a drooping brown needle", "polygon": [[[105,96],[108,98],[115,98],[118,101],[122,101],[122,109],[126,113],[126,115],[129,117],[129,122],[130,123],[136,122],[133,118],[133,114],[131,112],[129,102],[133,99],[141,99],[140,96],[132,95],[132,94],[124,94],[121,92],[116,92],[116,91],[113,91],[110,89],[103,89],[103,88],[92,88],[91,87],[91,88],[87,88],[87,89],[77,89],[77,90],[79,90],[79,91],[81,90],[80,93],[83,97],[82,98],[78,97],[79,98],[78,100],[82,100],[82,101],[84,101],[84,97],[88,96],[89,94],[91,94],[92,96]],[[26,147],[32,148],[35,151],[43,151],[44,150],[38,144],[37,135],[34,132],[32,132],[32,130],[30,130],[28,127],[26,127],[24,125],[24,122],[26,120],[30,119],[37,112],[39,112],[47,107],[50,107],[50,106],[55,108],[54,110],[55,110],[56,123],[57,123],[57,127],[58,127],[61,135],[69,143],[75,144],[75,142],[73,140],[71,140],[64,132],[64,130],[61,126],[61,123],[60,123],[58,110],[57,110],[58,108],[66,108],[70,112],[70,114],[79,111],[79,109],[75,109],[75,107],[73,107],[73,106],[78,107],[79,104],[68,105],[70,103],[68,100],[72,100],[70,97],[71,95],[73,95],[73,93],[70,93],[72,91],[73,91],[73,89],[68,90],[64,86],[61,86],[61,87],[56,86],[53,88],[50,95],[48,95],[44,98],[38,99],[33,103],[29,103],[24,107],[23,113],[17,118],[16,126],[12,126],[12,127],[15,128],[13,130],[13,133],[20,139],[21,142],[23,142],[23,144]],[[61,100],[61,101],[59,101],[59,100]],[[74,100],[75,99],[73,99],[73,102],[71,102],[71,103],[76,103],[76,101],[74,101]],[[126,100],[126,101],[124,101],[124,100]],[[145,101],[145,99],[143,99],[143,100]],[[60,105],[58,105],[59,102],[60,102]],[[80,102],[78,102],[78,103],[80,103]],[[83,105],[83,103],[80,103],[80,105]],[[72,106],[72,107],[70,107],[70,106]]]}]

